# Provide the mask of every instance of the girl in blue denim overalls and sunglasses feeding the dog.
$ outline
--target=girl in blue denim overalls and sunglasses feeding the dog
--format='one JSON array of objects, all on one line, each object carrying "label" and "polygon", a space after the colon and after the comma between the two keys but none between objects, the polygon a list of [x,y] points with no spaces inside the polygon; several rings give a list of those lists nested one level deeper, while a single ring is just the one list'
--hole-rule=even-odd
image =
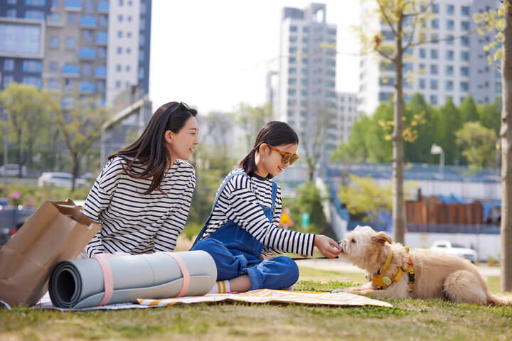
[{"label": "girl in blue denim overalls and sunglasses feeding the dog", "polygon": [[210,217],[192,247],[215,260],[218,282],[210,292],[284,289],[297,282],[299,269],[292,259],[263,259],[262,254],[312,255],[317,247],[324,256],[338,256],[338,243],[329,237],[278,228],[281,189],[272,178],[297,161],[298,144],[288,124],[268,123],[239,168],[220,185]]}]

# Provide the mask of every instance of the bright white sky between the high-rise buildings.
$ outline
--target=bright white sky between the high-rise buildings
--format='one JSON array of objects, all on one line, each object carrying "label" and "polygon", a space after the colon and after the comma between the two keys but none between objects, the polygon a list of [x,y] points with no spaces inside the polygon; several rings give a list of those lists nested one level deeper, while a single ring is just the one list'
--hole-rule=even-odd
[{"label": "bright white sky between the high-rise buildings", "polygon": [[[265,104],[268,70],[279,67],[284,7],[303,0],[153,0],[149,99],[156,109],[186,102],[200,114],[230,112],[240,102]],[[357,0],[326,4],[326,21],[337,26],[336,90],[358,90]]]}]

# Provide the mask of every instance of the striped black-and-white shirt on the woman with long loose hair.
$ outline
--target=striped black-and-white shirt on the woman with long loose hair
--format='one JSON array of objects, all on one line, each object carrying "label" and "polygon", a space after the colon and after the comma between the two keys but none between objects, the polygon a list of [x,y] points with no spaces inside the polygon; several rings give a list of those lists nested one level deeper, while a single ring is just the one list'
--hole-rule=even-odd
[{"label": "striped black-and-white shirt on the woman with long loose hair", "polygon": [[[196,187],[194,168],[176,160],[164,175],[161,191],[145,195],[151,178],[132,178],[123,171],[123,164],[122,158],[110,160],[85,200],[82,212],[102,226],[85,247],[87,256],[173,251]],[[143,169],[141,165],[132,167],[137,172]]]}]

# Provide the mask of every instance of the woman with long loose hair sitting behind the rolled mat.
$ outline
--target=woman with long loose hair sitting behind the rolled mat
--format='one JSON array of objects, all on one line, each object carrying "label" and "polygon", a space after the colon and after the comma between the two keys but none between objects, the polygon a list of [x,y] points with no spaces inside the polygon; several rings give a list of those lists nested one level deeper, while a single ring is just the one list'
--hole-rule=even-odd
[{"label": "woman with long loose hair sitting behind the rolled mat", "polygon": [[108,158],[82,211],[102,226],[87,256],[174,250],[196,186],[184,161],[199,143],[196,114],[183,102],[164,104],[134,144]]}]

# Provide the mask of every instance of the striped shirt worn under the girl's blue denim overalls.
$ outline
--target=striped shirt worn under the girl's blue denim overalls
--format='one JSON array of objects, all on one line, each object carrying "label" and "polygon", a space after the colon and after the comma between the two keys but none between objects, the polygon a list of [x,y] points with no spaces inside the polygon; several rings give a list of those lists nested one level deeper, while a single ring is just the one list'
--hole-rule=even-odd
[{"label": "striped shirt worn under the girl's blue denim overalls", "polygon": [[218,196],[201,239],[208,238],[231,220],[265,245],[262,252],[265,255],[293,252],[312,256],[314,234],[288,231],[278,227],[282,210],[281,188],[277,187],[274,215],[272,222],[269,222],[260,205],[272,206],[272,180],[258,175],[249,179],[241,168],[232,171],[228,177],[233,172],[240,175],[233,176]]}]

